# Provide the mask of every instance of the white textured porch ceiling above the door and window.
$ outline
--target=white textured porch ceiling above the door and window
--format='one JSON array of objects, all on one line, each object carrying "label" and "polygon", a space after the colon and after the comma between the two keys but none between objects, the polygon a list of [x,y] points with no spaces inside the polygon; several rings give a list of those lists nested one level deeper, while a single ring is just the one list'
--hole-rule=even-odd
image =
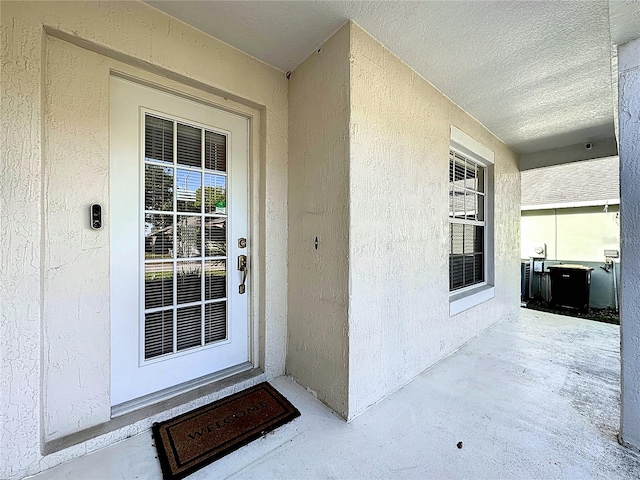
[{"label": "white textured porch ceiling above the door and window", "polygon": [[520,153],[614,136],[599,1],[147,1],[283,71],[353,20]]}]

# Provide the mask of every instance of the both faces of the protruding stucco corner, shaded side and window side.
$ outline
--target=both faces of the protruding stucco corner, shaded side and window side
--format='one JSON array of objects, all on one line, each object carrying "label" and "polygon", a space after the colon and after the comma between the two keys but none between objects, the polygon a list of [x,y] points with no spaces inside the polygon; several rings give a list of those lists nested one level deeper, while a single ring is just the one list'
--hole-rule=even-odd
[{"label": "both faces of the protruding stucco corner, shaded side and window side", "polygon": [[[353,23],[294,70],[289,100],[287,371],[352,419],[516,314],[518,157]],[[496,224],[495,297],[453,317],[451,125],[495,153]]]}]

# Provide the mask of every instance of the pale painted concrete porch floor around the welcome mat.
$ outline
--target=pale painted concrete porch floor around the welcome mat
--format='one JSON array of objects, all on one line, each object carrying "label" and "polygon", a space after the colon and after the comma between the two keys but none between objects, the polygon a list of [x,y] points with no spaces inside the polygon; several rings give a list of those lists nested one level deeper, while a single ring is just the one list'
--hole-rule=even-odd
[{"label": "pale painted concrete porch floor around the welcome mat", "polygon": [[[302,416],[188,478],[638,479],[616,439],[619,349],[618,326],[522,309],[349,424],[280,377]],[[32,478],[160,479],[152,443]]]}]

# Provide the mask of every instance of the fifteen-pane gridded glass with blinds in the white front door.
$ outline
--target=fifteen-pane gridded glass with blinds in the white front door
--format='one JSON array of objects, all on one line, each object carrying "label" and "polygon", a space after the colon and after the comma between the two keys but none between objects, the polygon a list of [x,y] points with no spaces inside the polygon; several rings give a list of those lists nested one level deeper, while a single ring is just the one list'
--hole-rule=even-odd
[{"label": "fifteen-pane gridded glass with blinds in the white front door", "polygon": [[227,338],[227,138],[146,114],[144,359]]}]

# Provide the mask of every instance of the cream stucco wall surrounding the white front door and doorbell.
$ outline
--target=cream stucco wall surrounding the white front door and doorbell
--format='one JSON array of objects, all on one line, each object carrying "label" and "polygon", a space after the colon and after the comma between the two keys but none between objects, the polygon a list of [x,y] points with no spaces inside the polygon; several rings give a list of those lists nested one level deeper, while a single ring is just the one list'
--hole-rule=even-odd
[{"label": "cream stucco wall surrounding the white front door and doorbell", "polygon": [[[43,27],[101,55],[54,39]],[[63,45],[84,53],[65,57]],[[265,377],[284,372],[284,74],[140,2],[3,2],[0,478],[38,472],[144,430],[152,420],[41,455],[46,439],[109,416],[108,208],[102,232],[89,230],[85,217],[90,203],[108,199],[108,97],[102,95],[114,59],[126,60],[116,68],[132,75],[154,80],[152,70],[167,86],[188,93],[199,86],[208,89],[202,98],[218,94],[224,97],[218,103],[229,98],[230,106],[260,111],[253,174],[262,195],[262,223],[254,231],[261,268],[255,274],[268,281],[260,284],[255,309],[264,320]]]}]

